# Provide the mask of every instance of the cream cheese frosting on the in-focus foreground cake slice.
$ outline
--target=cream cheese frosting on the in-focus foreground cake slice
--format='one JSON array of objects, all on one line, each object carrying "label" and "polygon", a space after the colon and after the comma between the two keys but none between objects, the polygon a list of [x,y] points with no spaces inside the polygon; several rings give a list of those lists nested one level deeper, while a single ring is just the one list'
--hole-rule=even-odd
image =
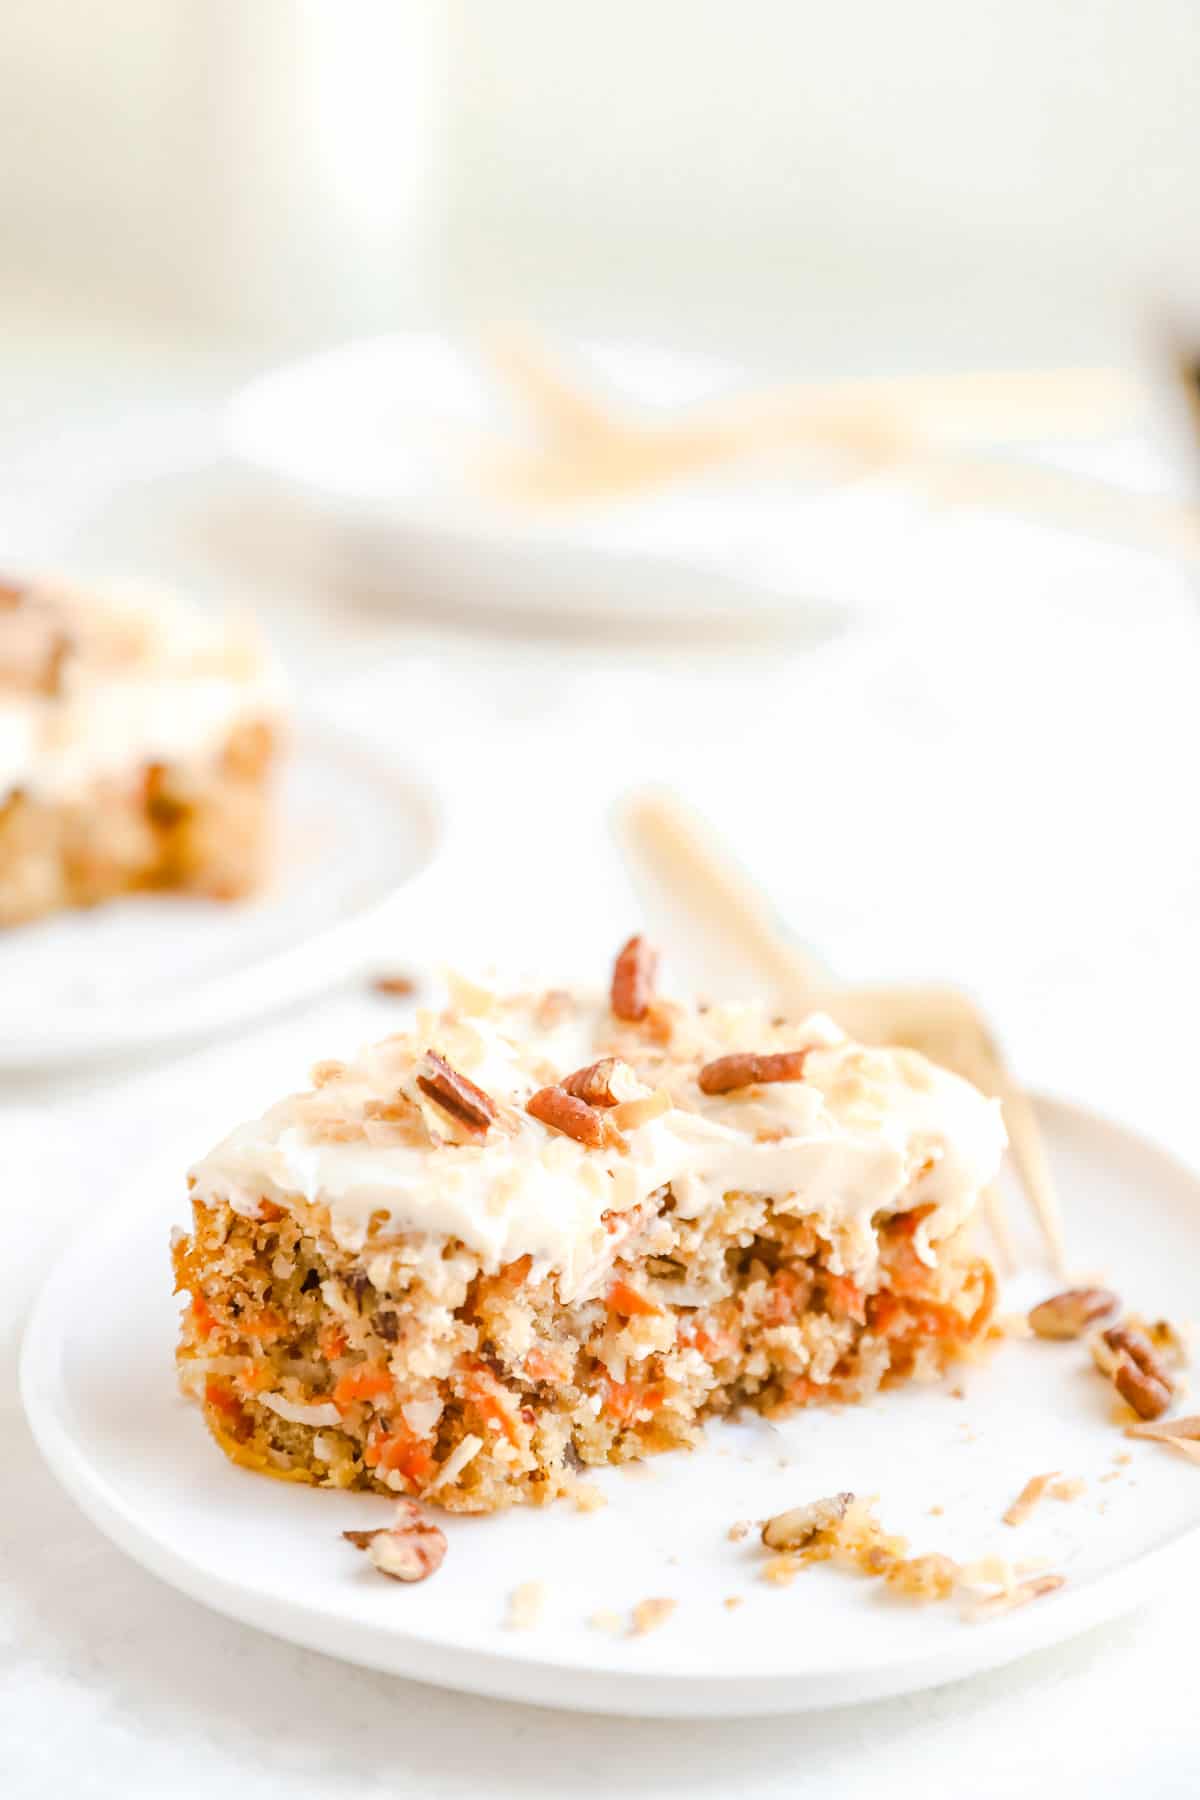
[{"label": "cream cheese frosting on the in-focus foreground cake slice", "polygon": [[[417,1085],[428,1049],[497,1103],[473,1141]],[[802,1080],[705,1094],[698,1071],[738,1051],[806,1049]],[[527,1100],[599,1057],[633,1071],[655,1116],[622,1145],[588,1148],[525,1112]],[[829,1019],[770,1017],[761,1006],[657,1003],[624,1024],[597,995],[498,995],[470,983],[441,1013],[320,1066],[318,1085],[232,1132],[193,1170],[194,1197],[257,1215],[263,1201],[320,1208],[335,1242],[369,1235],[459,1238],[488,1271],[529,1255],[563,1300],[587,1296],[612,1262],[621,1219],[669,1184],[700,1217],[727,1193],[768,1195],[811,1217],[847,1273],[874,1260],[873,1220],[928,1208],[916,1247],[972,1213],[1004,1152],[999,1102],[918,1051],[851,1042]]]}]

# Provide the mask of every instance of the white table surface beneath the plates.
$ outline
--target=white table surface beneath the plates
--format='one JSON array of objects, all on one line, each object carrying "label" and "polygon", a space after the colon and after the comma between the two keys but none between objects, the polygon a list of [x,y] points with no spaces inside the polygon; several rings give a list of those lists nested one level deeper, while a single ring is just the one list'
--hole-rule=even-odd
[{"label": "white table surface beneath the plates", "polygon": [[[957,545],[966,527],[914,544],[896,576],[910,605],[849,648],[676,643],[651,653],[488,637],[416,610],[387,619],[347,608],[327,545],[300,522],[272,535],[205,461],[225,365],[139,365],[144,410],[157,407],[169,443],[187,452],[184,473],[113,495],[104,421],[128,410],[128,347],[81,356],[88,380],[58,391],[22,364],[27,403],[0,421],[9,544],[254,592],[324,711],[435,761],[453,801],[453,851],[437,918],[414,920],[398,965],[500,958],[599,972],[635,916],[606,808],[631,781],[666,779],[847,974],[968,981],[1031,1082],[1110,1107],[1200,1161],[1189,1044],[1200,637],[1180,576],[1150,558],[979,524]],[[121,441],[133,461],[149,454],[137,434]],[[952,553],[977,581],[934,605],[932,571]],[[347,992],[232,1049],[0,1089],[11,1220],[0,1262],[0,1791],[1196,1793],[1191,1593],[912,1699],[655,1724],[345,1669],[207,1613],[110,1548],[41,1467],[16,1406],[16,1343],[41,1273],[126,1168],[176,1147],[182,1179],[234,1116],[394,1017]],[[801,1589],[781,1604],[797,1606],[802,1629]]]}]

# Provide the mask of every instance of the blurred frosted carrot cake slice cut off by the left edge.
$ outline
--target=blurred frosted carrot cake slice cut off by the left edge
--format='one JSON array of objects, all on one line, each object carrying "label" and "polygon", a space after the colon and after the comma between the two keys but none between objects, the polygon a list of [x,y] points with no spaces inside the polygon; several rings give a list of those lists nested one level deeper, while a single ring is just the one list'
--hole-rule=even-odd
[{"label": "blurred frosted carrot cake slice cut off by the left edge", "polygon": [[0,925],[146,887],[252,889],[279,716],[243,623],[0,583]]}]

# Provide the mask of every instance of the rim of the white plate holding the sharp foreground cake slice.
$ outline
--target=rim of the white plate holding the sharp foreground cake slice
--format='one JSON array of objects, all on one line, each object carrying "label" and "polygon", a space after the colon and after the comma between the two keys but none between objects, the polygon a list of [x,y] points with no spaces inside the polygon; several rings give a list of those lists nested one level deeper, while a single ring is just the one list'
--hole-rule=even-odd
[{"label": "rim of the white plate holding the sharp foreground cake slice", "polygon": [[[1042,1103],[1074,1114],[1076,1121],[1085,1125],[1117,1130],[1137,1148],[1171,1163],[1186,1179],[1196,1179],[1191,1165],[1132,1127],[1119,1125],[1076,1102],[1043,1098]],[[175,1174],[173,1161],[171,1175]],[[144,1206],[144,1181],[137,1184],[140,1206]],[[372,1629],[362,1620],[340,1616],[327,1606],[223,1580],[173,1544],[149,1537],[122,1494],[81,1449],[67,1424],[59,1303],[70,1292],[77,1267],[90,1262],[94,1238],[119,1231],[130,1210],[126,1202],[79,1237],[38,1296],[20,1359],[25,1417],[47,1463],[83,1512],[135,1562],[203,1606],[286,1642],[417,1681],[500,1699],[648,1717],[750,1717],[864,1703],[1002,1667],[1133,1609],[1162,1589],[1173,1573],[1184,1566],[1191,1570],[1196,1566],[1200,1525],[1178,1532],[1157,1550],[1144,1552],[1081,1588],[1065,1588],[1054,1597],[1052,1606],[1027,1607],[988,1627],[964,1629],[954,1647],[916,1651],[903,1665],[889,1658],[882,1663],[855,1663],[853,1669],[806,1672],[802,1683],[795,1670],[781,1674],[772,1667],[745,1663],[714,1676],[680,1672],[669,1665],[639,1669],[628,1660],[617,1661],[615,1649],[604,1647],[603,1640],[597,1640],[588,1663],[540,1658],[520,1640],[515,1640],[511,1649],[506,1645],[504,1651],[491,1651],[464,1642],[461,1633],[439,1633],[428,1627],[414,1633],[392,1624],[387,1629]]]}]

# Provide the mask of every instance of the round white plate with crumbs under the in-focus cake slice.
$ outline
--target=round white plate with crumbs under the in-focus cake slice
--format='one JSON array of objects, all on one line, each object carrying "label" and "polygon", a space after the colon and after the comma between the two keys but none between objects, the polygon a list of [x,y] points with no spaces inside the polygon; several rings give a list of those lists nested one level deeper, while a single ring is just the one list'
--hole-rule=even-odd
[{"label": "round white plate with crumbs under the in-focus cake slice", "polygon": [[[1200,1181],[1141,1138],[1065,1103],[1042,1120],[1070,1244],[1130,1305],[1186,1314],[1200,1265]],[[725,1424],[694,1454],[599,1476],[608,1505],[560,1503],[448,1519],[450,1552],[426,1584],[372,1573],[340,1539],[390,1503],[266,1481],[230,1467],[171,1366],[176,1303],[167,1233],[184,1172],[146,1175],[77,1240],[45,1287],[22,1357],[22,1393],[50,1467],[130,1555],[205,1606],[347,1661],[468,1692],[648,1715],[741,1715],[869,1701],[990,1669],[1135,1606],[1184,1579],[1200,1543],[1200,1474],[1135,1444],[1079,1345],[1009,1343],[950,1384],[788,1424]],[[1029,1274],[1006,1296],[1051,1289]],[[1115,1458],[1132,1453],[1123,1465]],[[1020,1528],[1000,1514],[1024,1481],[1083,1476],[1074,1503],[1043,1501]],[[990,1624],[912,1607],[829,1566],[790,1588],[757,1579],[736,1519],[837,1489],[880,1496],[914,1548],[963,1559],[1045,1559],[1049,1598]],[[934,1514],[932,1508],[941,1508]],[[542,1622],[504,1625],[509,1591],[545,1584]],[[676,1600],[646,1636],[588,1624]],[[723,1600],[738,1597],[729,1609]]]}]

